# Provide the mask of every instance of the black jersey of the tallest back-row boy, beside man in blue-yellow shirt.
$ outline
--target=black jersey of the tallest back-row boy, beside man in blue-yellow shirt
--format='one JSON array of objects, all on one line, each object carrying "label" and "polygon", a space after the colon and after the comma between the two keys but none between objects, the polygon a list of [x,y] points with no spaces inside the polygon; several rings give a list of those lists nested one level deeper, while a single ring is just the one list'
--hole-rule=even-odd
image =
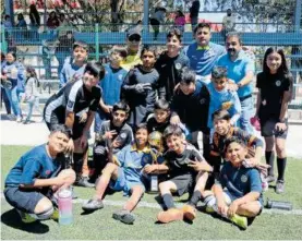
[{"label": "black jersey of the tallest back-row boy, beside man in blue-yellow shirt", "polygon": [[189,58],[182,52],[171,58],[167,52],[160,55],[155,63],[159,73],[159,98],[171,100],[174,87],[180,82],[180,73],[184,67],[190,67]]}]

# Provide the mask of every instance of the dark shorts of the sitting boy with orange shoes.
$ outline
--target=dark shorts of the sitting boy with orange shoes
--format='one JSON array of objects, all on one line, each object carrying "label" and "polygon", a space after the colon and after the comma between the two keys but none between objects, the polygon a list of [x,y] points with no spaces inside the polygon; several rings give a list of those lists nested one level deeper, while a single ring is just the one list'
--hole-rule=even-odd
[{"label": "dark shorts of the sitting boy with orange shoes", "polygon": [[171,181],[177,185],[177,194],[182,196],[184,193],[191,193],[194,189],[195,176],[188,173],[176,176],[167,181]]}]

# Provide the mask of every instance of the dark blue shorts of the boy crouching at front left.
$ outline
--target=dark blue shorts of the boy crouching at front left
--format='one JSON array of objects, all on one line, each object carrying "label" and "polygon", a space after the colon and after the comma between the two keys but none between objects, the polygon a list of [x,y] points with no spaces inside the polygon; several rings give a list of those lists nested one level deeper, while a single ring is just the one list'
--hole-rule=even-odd
[{"label": "dark blue shorts of the boy crouching at front left", "polygon": [[21,190],[17,186],[8,186],[4,190],[5,200],[10,205],[25,213],[34,214],[38,202],[46,197],[36,190]]}]

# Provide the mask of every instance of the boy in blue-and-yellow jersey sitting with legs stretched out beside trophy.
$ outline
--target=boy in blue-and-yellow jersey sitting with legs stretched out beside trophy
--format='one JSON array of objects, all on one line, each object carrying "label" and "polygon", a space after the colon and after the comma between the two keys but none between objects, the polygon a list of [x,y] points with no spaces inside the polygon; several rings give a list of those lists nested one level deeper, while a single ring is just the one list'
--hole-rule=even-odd
[{"label": "boy in blue-and-yellow jersey sitting with legs stretched out beside trophy", "polygon": [[140,202],[145,192],[143,184],[143,169],[146,165],[157,161],[152,155],[148,145],[147,126],[138,124],[135,132],[135,142],[122,148],[108,162],[96,184],[96,194],[87,203],[84,203],[84,210],[96,210],[104,207],[102,198],[107,186],[114,191],[123,191],[130,198],[122,209],[113,213],[113,218],[124,224],[133,224],[135,216],[131,213]]}]

